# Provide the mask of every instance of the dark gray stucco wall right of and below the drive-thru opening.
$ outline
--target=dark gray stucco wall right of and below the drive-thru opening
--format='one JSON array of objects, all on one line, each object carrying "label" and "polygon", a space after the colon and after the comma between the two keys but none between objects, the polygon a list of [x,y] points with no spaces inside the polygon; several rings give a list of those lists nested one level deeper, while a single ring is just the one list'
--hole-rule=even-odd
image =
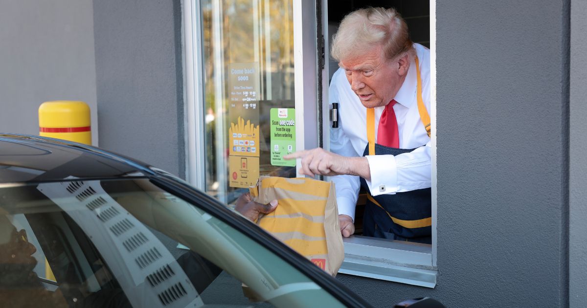
[{"label": "dark gray stucco wall right of and below the drive-thru opening", "polygon": [[569,1],[443,1],[436,18],[437,287],[339,279],[382,307],[567,306]]}]

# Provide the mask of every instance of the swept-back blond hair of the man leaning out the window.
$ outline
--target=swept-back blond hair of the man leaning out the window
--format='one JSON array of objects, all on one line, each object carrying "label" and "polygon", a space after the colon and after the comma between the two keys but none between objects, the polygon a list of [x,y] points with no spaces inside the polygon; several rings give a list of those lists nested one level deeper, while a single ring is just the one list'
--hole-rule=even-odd
[{"label": "swept-back blond hair of the man leaning out the window", "polygon": [[332,37],[330,55],[340,62],[361,56],[374,45],[382,46],[387,59],[413,50],[406,22],[395,9],[365,8],[346,15]]}]

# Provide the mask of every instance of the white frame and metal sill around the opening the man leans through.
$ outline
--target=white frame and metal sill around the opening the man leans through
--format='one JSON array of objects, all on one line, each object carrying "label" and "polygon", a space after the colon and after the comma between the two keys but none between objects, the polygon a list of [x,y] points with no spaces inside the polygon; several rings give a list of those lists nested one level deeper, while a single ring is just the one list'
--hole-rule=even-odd
[{"label": "white frame and metal sill around the opening the man leans through", "polygon": [[[328,0],[321,0],[323,7],[323,35],[328,38]],[[329,54],[326,40],[326,55]],[[297,62],[296,62],[297,63]],[[322,101],[328,100],[328,65],[324,67]],[[328,112],[323,113],[323,123],[329,123]],[[430,120],[431,120],[431,197],[432,197],[432,245],[400,241],[386,241],[366,236],[343,238],[345,260],[339,273],[370,277],[373,279],[407,283],[409,285],[435,287],[438,275],[437,252],[437,174],[436,174],[436,1],[430,1]],[[329,126],[324,129],[328,132]],[[328,147],[328,134],[324,136]],[[328,148],[327,148],[328,149]]]}]

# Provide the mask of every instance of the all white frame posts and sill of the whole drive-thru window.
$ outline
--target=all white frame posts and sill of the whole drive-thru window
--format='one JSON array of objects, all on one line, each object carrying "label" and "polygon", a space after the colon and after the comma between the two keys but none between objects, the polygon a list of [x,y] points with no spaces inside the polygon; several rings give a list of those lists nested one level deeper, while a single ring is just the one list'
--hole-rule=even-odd
[{"label": "all white frame posts and sill of the whole drive-thru window", "polygon": [[[325,53],[328,46],[328,0],[294,1],[294,60],[296,148],[318,146],[318,96],[316,92],[316,1],[322,1],[322,29]],[[186,174],[190,184],[205,190],[204,147],[204,86],[200,1],[186,0],[183,10],[184,80],[186,127]],[[194,31],[197,29],[198,31]],[[326,61],[328,62],[328,61]],[[299,65],[303,63],[303,65]],[[431,185],[432,185],[432,245],[385,241],[352,236],[345,238],[345,260],[339,273],[374,279],[407,283],[424,287],[436,286],[437,266],[437,169],[436,169],[436,1],[430,1],[430,118],[431,118]],[[328,65],[322,72],[322,131],[323,144],[328,150]],[[299,166],[298,176],[299,174]]]}]

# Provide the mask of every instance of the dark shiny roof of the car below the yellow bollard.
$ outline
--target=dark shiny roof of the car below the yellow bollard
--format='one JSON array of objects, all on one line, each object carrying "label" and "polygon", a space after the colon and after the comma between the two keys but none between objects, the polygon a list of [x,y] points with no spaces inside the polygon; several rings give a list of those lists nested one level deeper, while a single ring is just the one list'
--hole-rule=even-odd
[{"label": "dark shiny roof of the car below the yellow bollard", "polygon": [[149,165],[90,145],[0,133],[0,183],[140,177]]}]

